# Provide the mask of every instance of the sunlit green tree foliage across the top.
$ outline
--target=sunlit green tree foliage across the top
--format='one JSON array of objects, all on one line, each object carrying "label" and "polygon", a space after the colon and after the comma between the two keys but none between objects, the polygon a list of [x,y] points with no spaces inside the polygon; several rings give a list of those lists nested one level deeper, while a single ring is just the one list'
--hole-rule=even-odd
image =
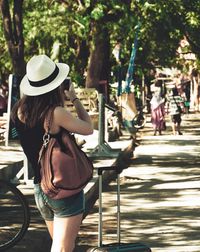
[{"label": "sunlit green tree foliage across the top", "polygon": [[[200,58],[199,0],[43,0],[42,4],[32,0],[24,1],[23,6],[25,60],[45,53],[64,61],[71,67],[72,79],[83,85],[94,32],[106,27],[112,71],[117,71],[112,49],[120,40],[125,77],[138,23],[141,28],[136,71],[148,73],[155,66],[179,66],[177,48],[184,36],[190,41],[188,50]],[[11,71],[10,62],[0,19],[1,72]]]}]

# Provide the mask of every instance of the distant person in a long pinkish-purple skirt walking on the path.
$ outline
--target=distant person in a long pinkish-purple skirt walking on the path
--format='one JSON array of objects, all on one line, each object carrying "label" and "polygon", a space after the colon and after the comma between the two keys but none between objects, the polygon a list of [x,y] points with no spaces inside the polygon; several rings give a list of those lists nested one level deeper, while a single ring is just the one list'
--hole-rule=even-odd
[{"label": "distant person in a long pinkish-purple skirt walking on the path", "polygon": [[162,135],[162,130],[165,129],[165,99],[162,98],[161,92],[154,91],[151,104],[151,122],[154,129],[154,136],[158,132]]}]

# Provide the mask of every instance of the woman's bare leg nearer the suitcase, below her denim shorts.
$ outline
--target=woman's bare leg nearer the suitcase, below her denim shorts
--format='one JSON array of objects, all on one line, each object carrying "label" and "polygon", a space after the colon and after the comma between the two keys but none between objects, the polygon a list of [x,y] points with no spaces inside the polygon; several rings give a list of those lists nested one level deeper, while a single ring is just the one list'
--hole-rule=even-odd
[{"label": "woman's bare leg nearer the suitcase, below her denim shorts", "polygon": [[54,218],[51,252],[72,252],[82,222],[82,214]]}]

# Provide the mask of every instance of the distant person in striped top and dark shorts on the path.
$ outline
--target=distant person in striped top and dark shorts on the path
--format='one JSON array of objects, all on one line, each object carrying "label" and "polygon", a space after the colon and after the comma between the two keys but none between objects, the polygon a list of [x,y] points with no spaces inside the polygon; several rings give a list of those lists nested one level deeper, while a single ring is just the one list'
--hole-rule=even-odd
[{"label": "distant person in striped top and dark shorts on the path", "polygon": [[181,113],[182,113],[182,98],[176,87],[172,88],[171,94],[168,96],[168,111],[171,116],[173,135],[182,135],[181,132]]}]

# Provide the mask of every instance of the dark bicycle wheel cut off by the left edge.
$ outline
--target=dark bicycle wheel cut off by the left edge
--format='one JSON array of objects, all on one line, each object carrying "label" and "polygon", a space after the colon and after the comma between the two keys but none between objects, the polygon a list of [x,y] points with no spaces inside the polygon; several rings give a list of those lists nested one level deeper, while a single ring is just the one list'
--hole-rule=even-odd
[{"label": "dark bicycle wheel cut off by the left edge", "polygon": [[30,222],[25,196],[13,184],[0,180],[0,251],[13,247]]}]

